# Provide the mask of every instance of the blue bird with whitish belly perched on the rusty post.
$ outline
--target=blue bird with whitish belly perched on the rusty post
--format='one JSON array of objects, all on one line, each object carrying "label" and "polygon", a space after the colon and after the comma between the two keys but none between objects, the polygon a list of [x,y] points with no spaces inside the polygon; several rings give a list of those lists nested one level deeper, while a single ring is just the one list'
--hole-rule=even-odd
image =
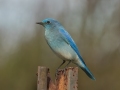
[{"label": "blue bird with whitish belly perched on the rusty post", "polygon": [[88,75],[88,77],[95,80],[93,74],[83,61],[74,40],[57,20],[47,18],[42,22],[37,22],[37,24],[40,24],[45,28],[45,39],[48,45],[52,51],[63,60],[58,69],[66,61],[68,61],[66,66],[72,62],[80,67]]}]

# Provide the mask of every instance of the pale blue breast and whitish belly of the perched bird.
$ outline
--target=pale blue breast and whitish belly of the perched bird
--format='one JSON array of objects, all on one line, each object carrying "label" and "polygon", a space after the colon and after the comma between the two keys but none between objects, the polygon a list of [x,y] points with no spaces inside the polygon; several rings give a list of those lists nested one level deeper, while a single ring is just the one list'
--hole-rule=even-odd
[{"label": "pale blue breast and whitish belly of the perched bird", "polygon": [[64,60],[74,60],[77,57],[75,51],[59,35],[46,33],[46,41],[52,51]]}]

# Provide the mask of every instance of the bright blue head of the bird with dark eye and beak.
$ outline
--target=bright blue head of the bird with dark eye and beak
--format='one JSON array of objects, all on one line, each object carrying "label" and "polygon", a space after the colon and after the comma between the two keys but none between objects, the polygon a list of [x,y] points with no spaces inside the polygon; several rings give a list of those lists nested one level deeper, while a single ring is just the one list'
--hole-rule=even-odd
[{"label": "bright blue head of the bird with dark eye and beak", "polygon": [[45,27],[45,29],[52,29],[61,26],[61,24],[57,20],[54,20],[52,18],[44,19],[42,22],[37,22],[36,24],[42,25],[43,27]]}]

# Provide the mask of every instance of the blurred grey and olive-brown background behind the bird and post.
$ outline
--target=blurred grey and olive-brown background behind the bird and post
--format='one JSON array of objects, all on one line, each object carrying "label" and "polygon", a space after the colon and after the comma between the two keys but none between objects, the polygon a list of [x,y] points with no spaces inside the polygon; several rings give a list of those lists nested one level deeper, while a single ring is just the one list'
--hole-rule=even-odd
[{"label": "blurred grey and olive-brown background behind the bird and post", "polygon": [[79,90],[120,90],[120,0],[0,0],[0,90],[36,90],[38,66],[54,80],[62,60],[36,25],[48,17],[71,34],[96,78],[79,69]]}]

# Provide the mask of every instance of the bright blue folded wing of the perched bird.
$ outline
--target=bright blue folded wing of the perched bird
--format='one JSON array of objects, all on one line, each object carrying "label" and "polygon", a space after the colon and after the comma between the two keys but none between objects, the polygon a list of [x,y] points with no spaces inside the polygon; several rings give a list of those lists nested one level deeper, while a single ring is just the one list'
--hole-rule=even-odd
[{"label": "bright blue folded wing of the perched bird", "polygon": [[[77,53],[78,57],[83,61],[83,59],[79,53],[79,50],[78,50],[74,40],[69,35],[69,33],[67,31],[65,31],[63,28],[60,29],[59,32],[61,33],[63,40],[66,41],[66,43],[68,43],[72,47],[72,49]],[[85,64],[84,61],[83,61],[83,63]]]}]

